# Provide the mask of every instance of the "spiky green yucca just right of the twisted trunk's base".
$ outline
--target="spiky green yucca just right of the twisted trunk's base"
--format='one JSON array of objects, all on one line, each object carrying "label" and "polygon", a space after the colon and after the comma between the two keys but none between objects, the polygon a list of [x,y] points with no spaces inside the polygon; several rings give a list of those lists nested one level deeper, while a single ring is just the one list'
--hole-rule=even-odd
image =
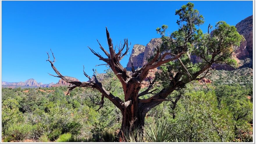
[{"label": "spiky green yucca just right of the twisted trunk's base", "polygon": [[150,123],[150,125],[143,128],[145,138],[150,142],[170,142],[169,132],[172,130],[171,126],[167,123]]}]

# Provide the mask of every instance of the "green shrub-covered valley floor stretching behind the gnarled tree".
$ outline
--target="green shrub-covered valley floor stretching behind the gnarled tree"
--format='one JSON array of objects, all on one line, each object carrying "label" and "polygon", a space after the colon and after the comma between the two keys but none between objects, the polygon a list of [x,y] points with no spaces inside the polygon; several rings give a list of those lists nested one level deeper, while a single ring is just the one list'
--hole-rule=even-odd
[{"label": "green shrub-covered valley floor stretching behind the gnarled tree", "polygon": [[[102,83],[124,98],[121,83],[111,70]],[[100,101],[100,94],[95,90],[75,88],[70,95],[66,92],[66,87],[3,88],[2,141],[116,141],[122,114],[111,102],[106,101],[96,111],[94,102]],[[168,96],[175,97],[175,93]],[[147,113],[146,136],[136,141],[252,141],[252,100],[252,84],[189,83],[175,109],[172,101],[166,101]],[[127,132],[124,137],[132,142],[137,135],[136,131]]]}]

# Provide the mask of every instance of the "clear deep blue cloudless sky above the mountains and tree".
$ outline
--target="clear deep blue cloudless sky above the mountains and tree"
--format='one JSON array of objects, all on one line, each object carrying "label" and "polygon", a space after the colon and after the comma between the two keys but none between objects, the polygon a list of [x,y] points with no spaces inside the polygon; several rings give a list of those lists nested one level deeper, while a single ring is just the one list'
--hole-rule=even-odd
[{"label": "clear deep blue cloudless sky above the mountains and tree", "polygon": [[[102,54],[96,39],[105,49],[107,26],[113,44],[128,38],[146,45],[159,38],[156,28],[168,25],[168,33],[177,30],[175,10],[188,1],[2,1],[2,81],[19,82],[33,78],[38,82],[58,82],[46,51],[54,52],[55,66],[63,74],[80,81],[92,69],[104,72],[106,66],[87,46]],[[253,15],[253,1],[191,1],[205,17],[200,28],[226,21],[236,25]],[[130,49],[130,52],[131,52]],[[104,55],[104,54],[102,54]],[[129,57],[121,64],[126,67]]]}]

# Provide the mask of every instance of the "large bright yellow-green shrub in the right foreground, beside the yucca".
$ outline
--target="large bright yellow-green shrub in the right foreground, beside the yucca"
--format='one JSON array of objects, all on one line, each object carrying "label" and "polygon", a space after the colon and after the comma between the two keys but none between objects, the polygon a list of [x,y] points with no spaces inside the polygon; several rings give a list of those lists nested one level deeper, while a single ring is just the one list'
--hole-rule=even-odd
[{"label": "large bright yellow-green shrub in the right foreground, beside the yucca", "polygon": [[[157,110],[158,114],[149,115],[146,118],[145,124],[147,126],[148,123],[153,123],[154,121],[157,123],[168,122],[168,126],[172,128],[168,131],[169,141],[219,142],[232,141],[234,139],[234,120],[232,119],[232,114],[225,107],[218,108],[214,90],[192,90],[185,93],[183,98],[177,103],[178,111],[176,111],[175,119],[172,118],[171,114],[166,114],[170,104],[159,105],[161,107]],[[155,112],[151,111],[151,113]],[[151,120],[148,121],[147,119]],[[157,132],[153,134],[156,135]],[[154,136],[153,138],[156,137]],[[152,140],[146,139],[146,141]]]}]

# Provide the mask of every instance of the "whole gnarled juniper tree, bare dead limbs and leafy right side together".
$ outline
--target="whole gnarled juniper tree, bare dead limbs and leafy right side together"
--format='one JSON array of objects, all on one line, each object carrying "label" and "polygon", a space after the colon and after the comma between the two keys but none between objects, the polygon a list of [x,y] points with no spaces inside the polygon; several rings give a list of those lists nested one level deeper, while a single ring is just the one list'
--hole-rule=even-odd
[{"label": "whole gnarled juniper tree, bare dead limbs and leafy right side together", "polygon": [[[198,26],[204,23],[204,18],[193,7],[193,3],[187,3],[181,9],[176,10],[175,14],[179,15],[179,20],[177,20],[179,29],[170,36],[164,36],[164,32],[167,29],[166,25],[163,25],[162,29],[157,29],[162,35],[163,44],[161,47],[157,47],[154,56],[142,67],[135,70],[133,63],[131,63],[131,74],[120,64],[122,58],[129,51],[127,39],[124,40],[122,47],[114,49],[109,31],[106,28],[109,51],[104,49],[98,42],[105,56],[101,56],[88,47],[99,60],[109,65],[119,79],[124,92],[124,101],[107,91],[102,86],[102,83],[97,80],[95,74],[91,78],[83,71],[89,82],[72,81],[65,78],[54,66],[55,57],[53,53],[53,61],[50,60],[50,56],[47,53],[49,57],[47,61],[51,63],[51,67],[57,74],[57,76],[52,76],[59,77],[70,83],[69,92],[76,87],[98,90],[102,94],[101,102],[99,102],[100,107],[104,104],[104,99],[108,99],[120,109],[122,113],[122,126],[120,129],[122,131],[131,127],[132,129],[142,128],[145,115],[150,109],[161,104],[163,101],[167,101],[168,95],[175,90],[184,88],[190,81],[207,77],[210,74],[209,71],[213,69],[211,67],[213,63],[234,64],[232,55],[235,49],[233,46],[240,45],[241,41],[241,35],[236,31],[236,28],[221,21],[216,24],[211,35],[209,34],[209,28],[208,33],[202,33]],[[192,63],[190,55],[198,57],[199,61]],[[162,67],[163,72],[159,76],[163,89],[155,90],[154,80],[150,82],[149,87],[145,91],[140,92],[141,83],[147,77],[149,70],[158,68],[163,64],[168,65]],[[146,94],[151,94],[152,96],[147,99],[141,99],[141,96]]]}]

